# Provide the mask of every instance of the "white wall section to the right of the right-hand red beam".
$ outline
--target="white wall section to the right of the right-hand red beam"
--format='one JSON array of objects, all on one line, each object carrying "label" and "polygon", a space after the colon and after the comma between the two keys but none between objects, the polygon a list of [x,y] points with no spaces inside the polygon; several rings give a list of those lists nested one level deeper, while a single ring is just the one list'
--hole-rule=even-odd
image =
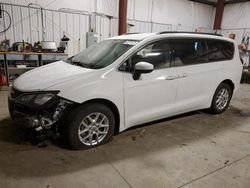
[{"label": "white wall section to the right of the right-hand red beam", "polygon": [[241,42],[242,36],[250,34],[250,2],[228,4],[224,8],[224,15],[220,31],[224,36],[236,34],[236,41]]}]

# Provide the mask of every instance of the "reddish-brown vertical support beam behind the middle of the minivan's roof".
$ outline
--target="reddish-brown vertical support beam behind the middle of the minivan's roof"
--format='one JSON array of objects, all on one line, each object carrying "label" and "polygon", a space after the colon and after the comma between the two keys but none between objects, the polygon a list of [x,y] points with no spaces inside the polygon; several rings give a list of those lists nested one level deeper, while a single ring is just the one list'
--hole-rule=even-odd
[{"label": "reddish-brown vertical support beam behind the middle of the minivan's roof", "polygon": [[127,32],[127,0],[119,0],[119,35]]}]

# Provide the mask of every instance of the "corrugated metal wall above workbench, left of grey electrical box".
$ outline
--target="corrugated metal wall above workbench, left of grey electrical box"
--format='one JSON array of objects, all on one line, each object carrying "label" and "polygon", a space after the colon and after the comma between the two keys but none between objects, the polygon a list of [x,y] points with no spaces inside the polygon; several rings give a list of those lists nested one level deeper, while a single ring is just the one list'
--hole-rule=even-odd
[{"label": "corrugated metal wall above workbench, left of grey electrical box", "polygon": [[[3,4],[4,10],[11,15],[11,28],[0,35],[13,42],[42,41],[41,9],[20,5]],[[5,14],[4,14],[5,15]],[[63,34],[69,38],[68,54],[73,55],[86,48],[86,32],[89,31],[89,15],[58,10],[43,10],[44,31],[46,41],[55,41],[57,45]],[[9,24],[8,16],[0,23],[0,30]]]}]

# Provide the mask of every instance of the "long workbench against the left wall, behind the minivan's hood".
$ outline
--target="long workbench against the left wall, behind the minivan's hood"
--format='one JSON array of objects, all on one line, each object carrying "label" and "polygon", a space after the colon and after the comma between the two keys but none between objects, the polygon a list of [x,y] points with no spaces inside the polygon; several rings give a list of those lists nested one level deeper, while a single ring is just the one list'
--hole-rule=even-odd
[{"label": "long workbench against the left wall, behind the minivan's hood", "polygon": [[[24,73],[36,67],[68,57],[66,53],[0,52],[0,70],[6,76],[6,86],[11,85],[10,72]],[[16,62],[27,62],[32,66],[17,67]]]}]

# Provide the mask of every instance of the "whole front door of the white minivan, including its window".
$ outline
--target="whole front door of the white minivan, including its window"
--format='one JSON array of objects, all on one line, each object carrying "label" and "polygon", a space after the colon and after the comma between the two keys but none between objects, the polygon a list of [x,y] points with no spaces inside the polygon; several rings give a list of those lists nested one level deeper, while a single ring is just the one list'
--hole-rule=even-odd
[{"label": "whole front door of the white minivan, including its window", "polygon": [[[127,127],[174,114],[177,92],[176,69],[171,67],[171,50],[167,41],[154,42],[135,53],[127,61],[124,72],[125,124]],[[132,73],[138,62],[154,65],[154,70],[134,80]]]}]

